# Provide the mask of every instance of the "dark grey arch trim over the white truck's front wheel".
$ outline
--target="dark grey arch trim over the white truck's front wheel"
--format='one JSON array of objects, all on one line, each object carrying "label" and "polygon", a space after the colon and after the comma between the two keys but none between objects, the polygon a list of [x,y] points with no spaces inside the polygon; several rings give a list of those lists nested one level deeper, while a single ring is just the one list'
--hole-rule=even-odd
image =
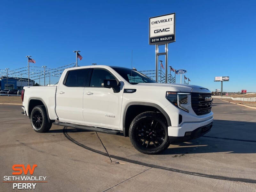
[{"label": "dark grey arch trim over the white truck's front wheel", "polygon": [[170,116],[159,105],[157,105],[155,103],[149,103],[149,102],[130,102],[124,108],[123,125],[122,125],[123,126],[124,137],[128,136],[129,127],[126,126],[125,121],[127,120],[127,118],[126,118],[127,117],[127,111],[132,106],[143,106],[143,107],[148,106],[148,107],[151,107],[151,108],[156,108],[165,117],[167,125],[172,126]]}]

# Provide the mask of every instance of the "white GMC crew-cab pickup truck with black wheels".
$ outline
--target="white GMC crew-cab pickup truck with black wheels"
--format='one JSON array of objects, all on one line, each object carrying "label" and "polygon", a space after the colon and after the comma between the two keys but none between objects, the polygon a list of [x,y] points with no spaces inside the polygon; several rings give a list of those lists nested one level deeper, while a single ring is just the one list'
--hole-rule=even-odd
[{"label": "white GMC crew-cab pickup truck with black wheels", "polygon": [[24,114],[36,132],[53,124],[130,137],[145,154],[194,139],[212,128],[211,92],[200,86],[159,84],[136,69],[65,69],[57,86],[24,87]]}]

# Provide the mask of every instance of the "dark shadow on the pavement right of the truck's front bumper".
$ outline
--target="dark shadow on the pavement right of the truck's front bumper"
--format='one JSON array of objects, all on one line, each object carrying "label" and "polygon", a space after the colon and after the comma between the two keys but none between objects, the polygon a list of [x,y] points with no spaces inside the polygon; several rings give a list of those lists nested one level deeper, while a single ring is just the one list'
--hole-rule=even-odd
[{"label": "dark shadow on the pavement right of the truck's front bumper", "polygon": [[172,144],[161,154],[256,153],[256,122],[214,120],[203,137]]}]

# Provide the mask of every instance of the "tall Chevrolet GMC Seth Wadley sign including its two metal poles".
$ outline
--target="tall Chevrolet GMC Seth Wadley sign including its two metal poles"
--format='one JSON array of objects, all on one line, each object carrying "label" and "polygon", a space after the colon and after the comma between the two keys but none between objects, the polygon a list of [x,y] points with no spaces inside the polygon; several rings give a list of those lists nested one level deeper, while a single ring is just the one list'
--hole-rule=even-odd
[{"label": "tall Chevrolet GMC Seth Wadley sign including its two metal poles", "polygon": [[[158,81],[158,56],[165,55],[165,83],[168,82],[168,43],[175,42],[175,13],[149,18],[149,44],[156,45],[156,82]],[[165,52],[158,52],[165,45]]]}]

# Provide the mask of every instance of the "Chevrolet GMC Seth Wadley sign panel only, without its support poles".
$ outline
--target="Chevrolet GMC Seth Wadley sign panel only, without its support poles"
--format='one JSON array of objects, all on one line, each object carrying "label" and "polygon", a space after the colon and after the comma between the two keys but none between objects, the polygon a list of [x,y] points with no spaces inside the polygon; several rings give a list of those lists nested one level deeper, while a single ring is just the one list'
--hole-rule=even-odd
[{"label": "Chevrolet GMC Seth Wadley sign panel only, without its support poles", "polygon": [[149,44],[175,41],[175,13],[149,18]]}]

